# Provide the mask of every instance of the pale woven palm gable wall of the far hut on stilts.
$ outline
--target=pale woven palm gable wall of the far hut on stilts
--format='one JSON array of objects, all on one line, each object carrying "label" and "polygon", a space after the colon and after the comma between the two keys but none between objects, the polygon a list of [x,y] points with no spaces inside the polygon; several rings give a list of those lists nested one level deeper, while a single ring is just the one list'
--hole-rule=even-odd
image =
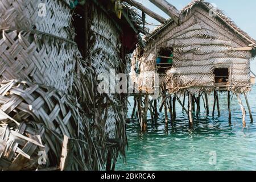
[{"label": "pale woven palm gable wall of the far hut on stilts", "polygon": [[[248,43],[200,6],[188,9],[184,22],[169,24],[150,40],[141,59],[141,80],[153,74],[162,48],[172,48],[174,63],[163,79],[170,93],[189,90],[198,93],[202,86],[214,86],[213,69],[228,68],[233,89],[250,86],[250,51],[235,51]],[[141,81],[142,82],[142,81]],[[207,90],[211,90],[210,87]]]}]

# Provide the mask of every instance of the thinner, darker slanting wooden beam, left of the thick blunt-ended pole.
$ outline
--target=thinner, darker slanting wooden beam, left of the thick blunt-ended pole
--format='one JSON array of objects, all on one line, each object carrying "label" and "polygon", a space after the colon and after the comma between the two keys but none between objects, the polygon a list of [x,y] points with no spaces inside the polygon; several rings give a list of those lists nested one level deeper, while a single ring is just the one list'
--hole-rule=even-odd
[{"label": "thinner, darker slanting wooden beam, left of the thick blunt-ended pole", "polygon": [[150,9],[147,9],[147,7],[143,6],[142,3],[139,3],[134,0],[125,0],[127,3],[129,3],[131,6],[137,7],[139,10],[146,13],[148,16],[151,16],[155,20],[158,20],[160,23],[165,23],[167,20],[163,18],[162,16],[156,14],[154,11],[151,11]]}]

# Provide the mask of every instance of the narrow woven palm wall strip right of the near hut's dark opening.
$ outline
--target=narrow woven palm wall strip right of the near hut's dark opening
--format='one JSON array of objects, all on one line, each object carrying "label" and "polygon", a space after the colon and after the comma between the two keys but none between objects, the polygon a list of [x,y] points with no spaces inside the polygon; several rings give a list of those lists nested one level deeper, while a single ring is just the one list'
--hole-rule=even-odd
[{"label": "narrow woven palm wall strip right of the near hut's dark opening", "polygon": [[[120,57],[121,40],[119,35],[121,34],[121,27],[114,23],[108,15],[102,13],[102,10],[94,6],[92,6],[92,15],[90,31],[93,42],[88,51],[88,62],[95,68],[96,76],[103,73],[106,74],[106,79],[109,81],[115,80],[116,74],[120,72],[126,73],[126,62],[128,62],[126,61],[128,58],[122,60]],[[114,75],[110,74],[110,72],[114,72]],[[109,86],[115,85],[110,83]],[[119,140],[118,150],[125,156],[127,97],[116,93],[106,93],[101,95],[100,101],[98,105],[108,105],[105,118],[106,134],[110,139]],[[112,148],[111,152],[112,156],[116,156],[117,151],[114,148]],[[116,160],[116,157],[114,160]]]}]

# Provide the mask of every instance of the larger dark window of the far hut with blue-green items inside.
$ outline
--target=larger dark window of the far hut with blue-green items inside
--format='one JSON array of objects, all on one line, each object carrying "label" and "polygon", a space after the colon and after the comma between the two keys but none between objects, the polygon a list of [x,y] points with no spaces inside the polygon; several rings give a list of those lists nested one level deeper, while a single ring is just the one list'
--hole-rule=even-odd
[{"label": "larger dark window of the far hut with blue-green items inside", "polygon": [[170,69],[173,64],[171,48],[161,49],[158,53],[158,57],[156,58],[156,68],[158,69],[158,73],[165,73],[167,69]]}]

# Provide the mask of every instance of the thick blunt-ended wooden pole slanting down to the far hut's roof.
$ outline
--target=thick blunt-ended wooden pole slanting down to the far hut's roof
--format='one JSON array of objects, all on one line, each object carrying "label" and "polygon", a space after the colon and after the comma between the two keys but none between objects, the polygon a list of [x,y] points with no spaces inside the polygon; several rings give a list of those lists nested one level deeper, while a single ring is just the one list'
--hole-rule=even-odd
[{"label": "thick blunt-ended wooden pole slanting down to the far hut's roof", "polygon": [[168,3],[166,0],[150,0],[160,10],[169,15],[177,24],[179,24],[180,11],[175,6]]}]

